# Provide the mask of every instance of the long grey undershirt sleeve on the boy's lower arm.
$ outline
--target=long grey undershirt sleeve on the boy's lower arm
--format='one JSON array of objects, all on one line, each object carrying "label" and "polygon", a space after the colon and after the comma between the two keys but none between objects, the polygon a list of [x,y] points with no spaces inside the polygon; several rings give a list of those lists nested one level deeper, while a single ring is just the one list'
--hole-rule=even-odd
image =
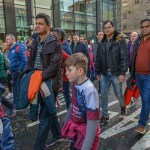
[{"label": "long grey undershirt sleeve on the boy's lower arm", "polygon": [[81,150],[91,150],[98,125],[99,120],[87,120],[86,137]]}]

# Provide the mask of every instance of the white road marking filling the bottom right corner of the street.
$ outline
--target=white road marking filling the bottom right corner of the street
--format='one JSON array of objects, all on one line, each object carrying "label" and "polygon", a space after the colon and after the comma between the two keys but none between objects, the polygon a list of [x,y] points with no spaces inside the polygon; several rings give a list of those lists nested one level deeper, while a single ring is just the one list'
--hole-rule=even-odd
[{"label": "white road marking filling the bottom right corner of the street", "polygon": [[150,148],[150,131],[148,131],[130,150],[144,150]]}]

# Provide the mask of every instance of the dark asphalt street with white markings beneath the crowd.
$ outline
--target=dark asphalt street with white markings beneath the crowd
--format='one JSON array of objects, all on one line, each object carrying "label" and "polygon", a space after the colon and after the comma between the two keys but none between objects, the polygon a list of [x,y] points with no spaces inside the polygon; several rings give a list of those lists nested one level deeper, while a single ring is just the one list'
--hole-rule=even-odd
[{"label": "dark asphalt street with white markings beneath the crowd", "polygon": [[[97,87],[97,81],[94,83]],[[124,85],[125,87],[125,85]],[[58,109],[60,124],[66,113],[63,95],[59,95],[61,108]],[[139,135],[134,131],[137,126],[140,114],[140,99],[136,104],[128,109],[125,117],[120,116],[119,103],[116,100],[113,89],[109,91],[109,114],[110,122],[101,127],[101,139],[99,150],[150,150],[150,131],[145,135]],[[38,121],[30,122],[28,119],[29,110],[17,112],[17,116],[11,119],[15,135],[15,150],[32,150],[38,131]],[[150,129],[150,121],[147,126]],[[49,134],[49,138],[51,133]],[[68,150],[68,142],[64,140],[47,150]]]}]

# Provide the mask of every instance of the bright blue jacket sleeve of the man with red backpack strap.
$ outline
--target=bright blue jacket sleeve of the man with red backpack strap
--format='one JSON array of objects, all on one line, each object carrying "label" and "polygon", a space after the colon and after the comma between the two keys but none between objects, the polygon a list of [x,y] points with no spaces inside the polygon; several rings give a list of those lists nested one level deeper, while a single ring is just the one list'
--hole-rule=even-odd
[{"label": "bright blue jacket sleeve of the man with red backpack strap", "polygon": [[18,67],[18,70],[23,71],[25,69],[25,66],[27,65],[27,55],[25,47],[19,46],[18,55],[20,59],[20,65]]}]

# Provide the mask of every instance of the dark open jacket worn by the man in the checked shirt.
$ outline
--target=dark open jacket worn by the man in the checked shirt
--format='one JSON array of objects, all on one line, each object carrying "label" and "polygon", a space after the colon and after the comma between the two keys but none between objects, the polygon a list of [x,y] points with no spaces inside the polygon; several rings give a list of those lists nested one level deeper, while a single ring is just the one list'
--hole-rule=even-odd
[{"label": "dark open jacket worn by the man in the checked shirt", "polygon": [[[34,68],[34,61],[39,40],[39,37],[37,37],[31,45],[27,69]],[[61,86],[60,75],[62,64],[62,47],[60,42],[52,35],[49,36],[44,48],[42,49],[41,61],[43,81],[53,79],[53,89],[57,91]]]}]

